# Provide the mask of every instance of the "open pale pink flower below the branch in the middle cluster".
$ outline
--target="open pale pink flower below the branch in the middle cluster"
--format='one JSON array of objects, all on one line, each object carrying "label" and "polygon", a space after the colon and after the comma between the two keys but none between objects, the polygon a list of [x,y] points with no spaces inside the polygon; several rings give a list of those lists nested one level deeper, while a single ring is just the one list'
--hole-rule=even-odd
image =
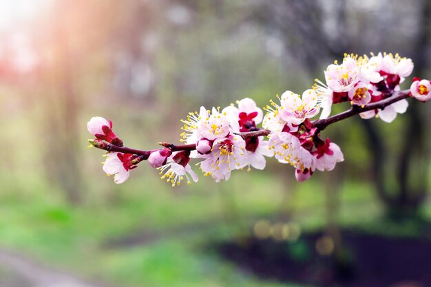
[{"label": "open pale pink flower below the branch in the middle cluster", "polygon": [[205,176],[212,176],[215,182],[229,180],[231,171],[246,164],[245,141],[237,135],[218,138],[213,142],[211,153],[197,157],[204,158],[200,169]]}]

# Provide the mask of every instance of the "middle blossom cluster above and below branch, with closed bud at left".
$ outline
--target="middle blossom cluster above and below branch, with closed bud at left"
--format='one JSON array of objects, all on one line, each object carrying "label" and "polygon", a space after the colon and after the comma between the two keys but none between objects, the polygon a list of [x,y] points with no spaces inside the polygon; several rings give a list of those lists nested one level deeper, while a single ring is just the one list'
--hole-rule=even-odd
[{"label": "middle blossom cluster above and below branch, with closed bud at left", "polygon": [[242,138],[239,134],[257,131],[257,124],[262,123],[263,112],[254,100],[244,98],[238,101],[238,107],[230,105],[220,112],[220,108],[209,111],[204,107],[200,113],[189,114],[182,133],[187,143],[196,142],[193,158],[202,159],[198,164],[205,176],[211,176],[216,182],[228,180],[231,171],[251,167],[264,169],[264,156],[271,156],[268,141],[263,136]]}]

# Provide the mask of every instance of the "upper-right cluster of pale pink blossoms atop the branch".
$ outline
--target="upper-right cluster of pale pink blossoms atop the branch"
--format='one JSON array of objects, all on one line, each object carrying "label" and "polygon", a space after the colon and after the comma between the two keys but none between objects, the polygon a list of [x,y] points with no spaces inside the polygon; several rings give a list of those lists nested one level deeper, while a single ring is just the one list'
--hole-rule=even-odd
[{"label": "upper-right cluster of pale pink blossoms atop the branch", "polygon": [[[335,61],[325,71],[326,84],[316,79],[315,89],[322,103],[322,115],[327,118],[333,103],[350,102],[362,108],[370,103],[377,103],[399,91],[403,83],[413,71],[411,59],[401,58],[398,54],[371,54],[370,57],[344,54],[342,63]],[[408,107],[407,100],[385,109],[364,111],[361,118],[379,117],[386,123],[392,122],[397,114],[403,114]]]}]

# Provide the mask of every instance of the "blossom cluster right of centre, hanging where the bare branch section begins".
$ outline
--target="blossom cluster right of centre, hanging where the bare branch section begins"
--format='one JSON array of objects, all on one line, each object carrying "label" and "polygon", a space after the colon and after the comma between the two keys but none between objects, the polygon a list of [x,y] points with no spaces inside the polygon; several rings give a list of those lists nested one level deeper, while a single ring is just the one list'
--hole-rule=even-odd
[{"label": "blossom cluster right of centre, hanging where the bare branch section begins", "polygon": [[319,137],[309,118],[319,113],[317,94],[308,89],[302,98],[291,91],[280,97],[280,105],[271,101],[264,118],[264,128],[269,129],[269,148],[281,163],[295,167],[298,181],[308,180],[315,169],[332,170],[337,162],[344,160],[337,145]]}]

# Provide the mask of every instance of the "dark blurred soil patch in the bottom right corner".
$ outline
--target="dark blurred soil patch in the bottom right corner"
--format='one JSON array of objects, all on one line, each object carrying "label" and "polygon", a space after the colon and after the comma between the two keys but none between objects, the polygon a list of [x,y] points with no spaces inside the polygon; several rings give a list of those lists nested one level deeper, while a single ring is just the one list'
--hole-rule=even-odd
[{"label": "dark blurred soil patch in the bottom right corner", "polygon": [[431,240],[382,237],[344,232],[348,252],[335,263],[319,255],[322,233],[296,242],[258,240],[218,244],[218,251],[258,277],[312,286],[429,287]]}]

